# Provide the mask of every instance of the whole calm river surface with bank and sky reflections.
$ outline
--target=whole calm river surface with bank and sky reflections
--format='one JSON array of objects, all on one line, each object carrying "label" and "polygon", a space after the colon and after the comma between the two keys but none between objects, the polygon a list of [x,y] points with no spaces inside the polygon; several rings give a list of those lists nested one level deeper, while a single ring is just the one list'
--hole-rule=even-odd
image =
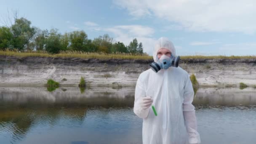
[{"label": "whole calm river surface with bank and sky reflections", "polygon": [[[256,90],[199,88],[194,105],[205,144],[253,143]],[[0,88],[0,143],[142,144],[133,88]]]}]

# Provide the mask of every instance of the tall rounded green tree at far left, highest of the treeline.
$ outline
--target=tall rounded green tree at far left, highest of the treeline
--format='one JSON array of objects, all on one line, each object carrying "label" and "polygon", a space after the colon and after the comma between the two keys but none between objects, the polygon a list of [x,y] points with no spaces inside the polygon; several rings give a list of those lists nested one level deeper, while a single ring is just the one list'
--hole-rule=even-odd
[{"label": "tall rounded green tree at far left, highest of the treeline", "polygon": [[11,26],[13,46],[18,50],[24,50],[29,40],[35,35],[35,27],[30,27],[31,22],[25,18],[15,19]]}]

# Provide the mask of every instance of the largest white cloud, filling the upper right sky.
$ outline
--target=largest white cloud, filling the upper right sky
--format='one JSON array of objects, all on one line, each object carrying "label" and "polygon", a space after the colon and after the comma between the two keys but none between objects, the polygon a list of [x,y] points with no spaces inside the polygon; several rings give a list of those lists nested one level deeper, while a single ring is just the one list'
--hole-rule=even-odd
[{"label": "largest white cloud, filling the upper right sky", "polygon": [[255,0],[113,0],[135,18],[156,16],[192,31],[256,33]]}]

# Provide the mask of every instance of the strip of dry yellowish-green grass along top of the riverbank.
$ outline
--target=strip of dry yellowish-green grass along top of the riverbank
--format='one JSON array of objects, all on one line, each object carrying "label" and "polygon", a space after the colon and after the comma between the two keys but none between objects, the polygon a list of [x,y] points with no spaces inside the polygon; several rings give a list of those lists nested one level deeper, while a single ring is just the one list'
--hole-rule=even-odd
[{"label": "strip of dry yellowish-green grass along top of the riverbank", "polygon": [[[62,51],[50,54],[45,51],[19,52],[16,50],[0,51],[1,56],[24,57],[52,57],[52,58],[81,58],[81,59],[144,59],[152,60],[152,56],[134,55],[131,53],[88,53],[81,51]],[[256,56],[181,56],[181,59],[256,59]]]}]

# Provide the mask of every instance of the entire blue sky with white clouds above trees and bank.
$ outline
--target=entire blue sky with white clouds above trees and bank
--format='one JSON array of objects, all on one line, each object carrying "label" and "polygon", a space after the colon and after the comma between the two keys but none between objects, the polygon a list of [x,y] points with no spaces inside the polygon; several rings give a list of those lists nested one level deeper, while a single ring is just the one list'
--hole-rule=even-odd
[{"label": "entire blue sky with white clouds above trees and bank", "polygon": [[40,29],[134,38],[152,55],[168,37],[176,55],[256,56],[255,0],[0,0],[0,26],[13,11]]}]

